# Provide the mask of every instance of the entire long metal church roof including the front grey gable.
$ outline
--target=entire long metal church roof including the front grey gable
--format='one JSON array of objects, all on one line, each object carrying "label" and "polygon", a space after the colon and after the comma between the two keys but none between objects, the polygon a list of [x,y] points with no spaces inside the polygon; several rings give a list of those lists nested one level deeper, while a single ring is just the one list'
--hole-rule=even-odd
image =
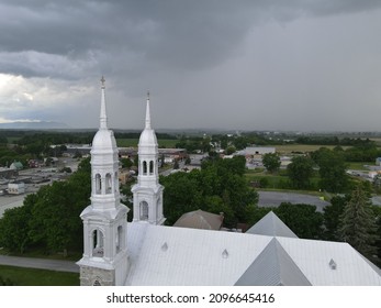
[{"label": "entire long metal church roof including the front grey gable", "polygon": [[127,227],[125,285],[381,285],[379,271],[348,243],[147,222]]}]

